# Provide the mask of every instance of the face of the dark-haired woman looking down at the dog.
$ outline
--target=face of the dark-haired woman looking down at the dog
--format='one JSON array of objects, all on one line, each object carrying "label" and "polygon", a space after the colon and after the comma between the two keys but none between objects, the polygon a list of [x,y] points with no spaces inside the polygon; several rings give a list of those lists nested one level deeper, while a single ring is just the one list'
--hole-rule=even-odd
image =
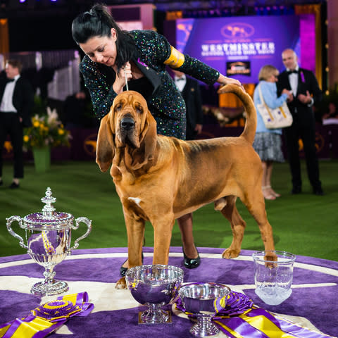
[{"label": "face of the dark-haired woman looking down at the dog", "polygon": [[91,37],[87,42],[79,45],[92,61],[112,67],[115,65],[117,56],[116,39],[116,31],[112,28],[111,37]]}]

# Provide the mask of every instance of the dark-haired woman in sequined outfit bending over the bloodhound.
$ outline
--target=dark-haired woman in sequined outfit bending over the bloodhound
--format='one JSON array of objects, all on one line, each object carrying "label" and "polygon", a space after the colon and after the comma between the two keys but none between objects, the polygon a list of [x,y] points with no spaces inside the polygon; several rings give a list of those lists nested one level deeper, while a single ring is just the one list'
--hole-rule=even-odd
[{"label": "dark-haired woman in sequined outfit bending over the bloodhound", "polygon": [[[196,58],[181,54],[165,37],[152,30],[126,32],[118,27],[107,8],[96,4],[73,20],[73,39],[86,54],[80,63],[84,84],[92,97],[95,115],[108,114],[113,99],[128,89],[139,92],[147,101],[157,123],[157,132],[185,139],[184,99],[165,70],[168,65],[206,84],[242,84],[221,75]],[[192,234],[192,213],[177,219],[182,235],[184,265],[199,266],[199,253]],[[127,270],[127,261],[120,269]]]}]

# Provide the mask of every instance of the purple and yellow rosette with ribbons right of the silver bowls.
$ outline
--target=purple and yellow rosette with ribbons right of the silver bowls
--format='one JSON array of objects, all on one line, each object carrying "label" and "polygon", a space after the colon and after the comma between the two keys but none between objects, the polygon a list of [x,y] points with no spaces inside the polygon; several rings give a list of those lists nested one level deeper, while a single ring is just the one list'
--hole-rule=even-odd
[{"label": "purple and yellow rosette with ribbons right of the silver bowls", "polygon": [[[177,299],[176,307],[188,315]],[[213,323],[230,338],[328,338],[290,320],[265,311],[253,305],[245,294],[230,292],[227,296],[215,299]]]}]

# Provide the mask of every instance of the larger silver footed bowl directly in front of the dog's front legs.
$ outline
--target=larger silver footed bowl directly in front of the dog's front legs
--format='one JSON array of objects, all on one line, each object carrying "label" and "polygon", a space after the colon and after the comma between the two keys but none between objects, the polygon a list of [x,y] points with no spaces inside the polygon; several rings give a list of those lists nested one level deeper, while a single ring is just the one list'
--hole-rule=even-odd
[{"label": "larger silver footed bowl directly in front of the dog's front legs", "polygon": [[170,311],[161,308],[173,303],[183,282],[184,272],[172,265],[140,265],[125,273],[134,299],[148,307],[139,312],[139,324],[171,323]]}]

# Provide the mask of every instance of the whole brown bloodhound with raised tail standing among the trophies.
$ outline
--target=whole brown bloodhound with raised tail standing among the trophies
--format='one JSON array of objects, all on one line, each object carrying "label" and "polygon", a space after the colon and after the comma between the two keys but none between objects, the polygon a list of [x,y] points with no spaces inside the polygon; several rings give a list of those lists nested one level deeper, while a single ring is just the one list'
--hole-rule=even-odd
[{"label": "whole brown bloodhound with raised tail standing among the trophies", "polygon": [[[256,133],[253,101],[234,84],[219,92],[232,92],[243,101],[247,118],[239,137],[182,141],[157,135],[144,97],[132,91],[119,94],[101,120],[96,163],[104,172],[111,165],[125,215],[129,267],[142,265],[147,220],[154,227],[153,263],[168,264],[175,219],[211,202],[232,228],[232,244],[223,258],[237,257],[246,225],[235,205],[237,197],[258,223],[265,250],[274,250],[261,190],[261,159],[252,147]],[[116,287],[126,287],[124,277]]]}]

